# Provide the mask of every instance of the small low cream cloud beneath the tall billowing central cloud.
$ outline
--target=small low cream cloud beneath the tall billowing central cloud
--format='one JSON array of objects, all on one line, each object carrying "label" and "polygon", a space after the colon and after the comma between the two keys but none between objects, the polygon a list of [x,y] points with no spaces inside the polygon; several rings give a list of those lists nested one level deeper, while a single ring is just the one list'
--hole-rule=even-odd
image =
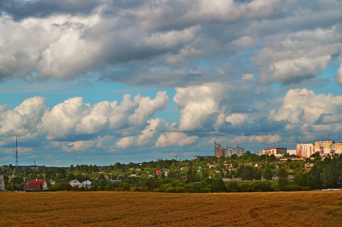
[{"label": "small low cream cloud beneath the tall billowing central cloud", "polygon": [[167,132],[161,134],[155,144],[156,147],[184,146],[195,143],[198,136],[187,136],[183,132]]}]

